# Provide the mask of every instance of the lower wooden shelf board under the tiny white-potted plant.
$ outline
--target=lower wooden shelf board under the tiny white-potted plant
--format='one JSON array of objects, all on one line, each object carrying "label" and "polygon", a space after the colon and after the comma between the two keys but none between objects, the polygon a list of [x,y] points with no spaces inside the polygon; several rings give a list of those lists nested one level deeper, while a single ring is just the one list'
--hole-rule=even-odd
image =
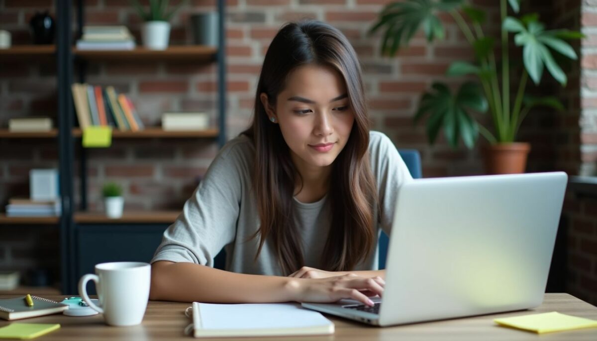
[{"label": "lower wooden shelf board under the tiny white-potted plant", "polygon": [[108,218],[104,212],[78,212],[73,220],[79,224],[172,224],[180,211],[125,211],[121,218]]}]

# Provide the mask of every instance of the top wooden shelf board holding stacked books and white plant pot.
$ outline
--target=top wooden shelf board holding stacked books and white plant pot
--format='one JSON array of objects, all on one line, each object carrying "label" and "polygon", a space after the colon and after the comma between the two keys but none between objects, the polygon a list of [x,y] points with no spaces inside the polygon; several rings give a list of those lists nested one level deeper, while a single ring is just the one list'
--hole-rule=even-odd
[{"label": "top wooden shelf board holding stacked books and white plant pot", "polygon": [[213,61],[217,48],[202,45],[171,46],[164,50],[137,47],[131,50],[80,50],[73,48],[73,55],[87,60],[118,61]]}]

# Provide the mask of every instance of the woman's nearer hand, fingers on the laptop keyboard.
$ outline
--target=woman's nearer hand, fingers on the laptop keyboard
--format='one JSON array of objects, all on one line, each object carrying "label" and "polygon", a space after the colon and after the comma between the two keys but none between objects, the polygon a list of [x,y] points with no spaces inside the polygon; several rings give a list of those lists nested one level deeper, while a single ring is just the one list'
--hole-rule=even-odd
[{"label": "woman's nearer hand, fingers on the laptop keyboard", "polygon": [[289,286],[297,302],[336,302],[354,299],[373,306],[369,297],[381,296],[385,282],[381,277],[367,278],[347,274],[327,278],[291,278]]}]

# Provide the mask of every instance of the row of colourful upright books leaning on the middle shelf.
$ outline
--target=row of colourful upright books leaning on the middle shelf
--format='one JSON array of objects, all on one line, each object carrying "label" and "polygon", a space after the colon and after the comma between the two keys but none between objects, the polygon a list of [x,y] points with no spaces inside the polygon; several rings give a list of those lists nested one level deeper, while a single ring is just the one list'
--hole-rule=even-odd
[{"label": "row of colourful upright books leaning on the middle shelf", "polygon": [[113,126],[120,131],[140,131],[145,128],[131,99],[118,94],[113,86],[74,83],[71,89],[81,129]]}]

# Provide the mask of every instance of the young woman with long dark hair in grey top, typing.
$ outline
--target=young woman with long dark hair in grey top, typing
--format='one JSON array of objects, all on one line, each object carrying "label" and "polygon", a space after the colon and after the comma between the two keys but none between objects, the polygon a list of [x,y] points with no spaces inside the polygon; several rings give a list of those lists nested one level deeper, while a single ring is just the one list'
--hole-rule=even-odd
[{"label": "young woman with long dark hair in grey top, typing", "polygon": [[[218,153],[152,259],[150,299],[373,305],[378,228],[411,176],[369,131],[354,49],[319,21],[282,27],[251,127]],[[226,271],[213,259],[224,247]]]}]

